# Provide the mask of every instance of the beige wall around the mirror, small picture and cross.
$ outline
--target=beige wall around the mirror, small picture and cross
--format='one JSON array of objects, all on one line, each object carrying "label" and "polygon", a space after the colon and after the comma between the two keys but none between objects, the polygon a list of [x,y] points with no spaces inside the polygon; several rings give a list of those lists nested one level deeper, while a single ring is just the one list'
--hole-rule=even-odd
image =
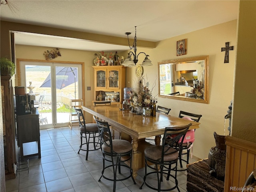
[{"label": "beige wall around the mirror, small picture and cross", "polygon": [[[198,158],[207,158],[209,150],[215,146],[214,131],[224,135],[224,116],[227,114],[228,106],[232,100],[233,78],[236,54],[236,25],[237,21],[226,22],[157,43],[153,50],[138,48],[138,52],[146,52],[154,66],[144,67],[150,84],[153,84],[157,74],[160,61],[176,58],[187,58],[201,55],[209,55],[209,104],[186,102],[169,98],[159,98],[158,104],[171,108],[170,115],[178,116],[180,110],[191,113],[202,114],[200,128],[196,130],[196,140],[193,147],[193,155]],[[187,54],[176,56],[176,42],[187,39]],[[230,42],[234,50],[229,52],[229,63],[224,64],[225,42]],[[140,58],[139,62],[142,62]],[[131,82],[136,79],[135,68],[128,68],[131,73]],[[126,82],[127,83],[127,82]],[[158,84],[153,90],[153,95],[158,93]],[[228,133],[228,120],[226,121],[225,134]]]}]

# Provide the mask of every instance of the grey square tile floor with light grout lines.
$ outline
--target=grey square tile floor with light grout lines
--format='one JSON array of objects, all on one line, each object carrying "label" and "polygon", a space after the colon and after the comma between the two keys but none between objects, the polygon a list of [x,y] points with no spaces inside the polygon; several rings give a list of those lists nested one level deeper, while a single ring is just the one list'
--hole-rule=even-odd
[{"label": "grey square tile floor with light grout lines", "polygon": [[[113,182],[104,178],[98,182],[102,170],[100,150],[89,152],[85,160],[85,151],[77,154],[80,145],[78,126],[40,130],[41,158],[29,158],[29,172],[17,172],[15,179],[6,180],[6,192],[111,192]],[[190,162],[196,160],[191,159]],[[111,170],[109,170],[111,171]],[[123,172],[122,172],[123,173]],[[116,192],[151,192],[143,182],[144,168],[138,170],[136,185],[132,179],[117,182]],[[124,173],[125,174],[125,173]],[[186,171],[178,172],[181,192],[186,192]],[[150,184],[156,178],[150,178]],[[164,185],[173,182],[164,180]],[[178,190],[173,190],[177,192]]]}]

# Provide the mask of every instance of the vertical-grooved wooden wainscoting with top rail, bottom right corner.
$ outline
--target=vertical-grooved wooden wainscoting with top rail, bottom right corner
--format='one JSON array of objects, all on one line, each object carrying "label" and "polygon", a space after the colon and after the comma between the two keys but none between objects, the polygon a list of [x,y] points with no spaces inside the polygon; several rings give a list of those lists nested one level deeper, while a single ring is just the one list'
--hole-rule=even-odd
[{"label": "vertical-grooved wooden wainscoting with top rail, bottom right corner", "polygon": [[226,146],[224,191],[230,191],[230,187],[242,188],[256,169],[256,143],[226,136]]}]

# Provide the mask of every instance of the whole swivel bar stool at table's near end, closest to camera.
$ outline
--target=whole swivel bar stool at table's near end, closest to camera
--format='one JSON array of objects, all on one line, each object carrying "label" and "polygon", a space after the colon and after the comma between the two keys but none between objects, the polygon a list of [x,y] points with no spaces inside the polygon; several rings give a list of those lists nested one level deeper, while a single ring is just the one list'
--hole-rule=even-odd
[{"label": "whole swivel bar stool at table's near end, closest to camera", "polygon": [[[184,140],[185,134],[188,131],[188,128],[192,124],[188,124],[185,126],[176,126],[176,127],[166,127],[164,130],[164,136],[162,139],[162,145],[154,145],[149,146],[144,150],[145,153],[145,176],[143,178],[144,182],[140,186],[145,184],[149,188],[157,191],[171,191],[178,188],[178,180],[177,180],[177,164],[178,164],[178,157],[181,148],[181,144],[178,141],[181,139],[182,142]],[[153,165],[152,165],[153,164]],[[172,168],[172,165],[174,167]],[[147,172],[148,169],[152,170],[151,172]],[[171,171],[174,171],[175,174],[172,175]],[[150,174],[157,174],[158,185],[152,186],[147,181],[147,176]],[[175,180],[175,186],[171,188],[162,188],[161,184],[163,182],[163,175],[166,174],[166,180],[169,180],[171,176]]]}]

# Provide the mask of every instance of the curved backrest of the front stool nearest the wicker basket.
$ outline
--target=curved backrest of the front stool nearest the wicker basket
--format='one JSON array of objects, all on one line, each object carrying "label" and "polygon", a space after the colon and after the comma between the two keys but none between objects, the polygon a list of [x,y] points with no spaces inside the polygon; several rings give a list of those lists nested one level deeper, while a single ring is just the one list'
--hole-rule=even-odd
[{"label": "curved backrest of the front stool nearest the wicker basket", "polygon": [[[185,126],[176,126],[176,127],[166,127],[164,130],[164,136],[162,139],[162,159],[164,162],[168,160],[168,156],[171,154],[177,153],[180,151],[185,135],[188,131],[188,128],[192,125],[192,123],[187,124]],[[177,158],[178,159],[178,158]]]}]

